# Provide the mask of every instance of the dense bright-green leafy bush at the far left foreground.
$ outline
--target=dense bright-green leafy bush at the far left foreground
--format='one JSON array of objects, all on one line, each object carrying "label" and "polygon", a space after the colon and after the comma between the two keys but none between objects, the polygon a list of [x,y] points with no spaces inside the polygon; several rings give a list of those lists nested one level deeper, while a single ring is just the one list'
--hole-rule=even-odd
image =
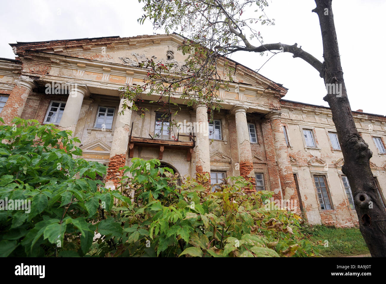
[{"label": "dense bright-green leafy bush at the far left foreground", "polygon": [[32,120],[14,123],[0,126],[0,199],[30,201],[30,212],[0,210],[0,256],[85,255],[113,197],[130,199],[98,190],[96,174],[103,176],[106,167],[74,159],[81,150],[69,131]]}]

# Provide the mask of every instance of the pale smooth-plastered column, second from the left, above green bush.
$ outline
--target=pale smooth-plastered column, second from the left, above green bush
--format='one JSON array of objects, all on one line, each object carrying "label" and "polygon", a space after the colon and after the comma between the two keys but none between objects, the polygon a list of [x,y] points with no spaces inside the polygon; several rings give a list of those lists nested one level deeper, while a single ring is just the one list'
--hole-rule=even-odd
[{"label": "pale smooth-plastered column, second from the left, above green bush", "polygon": [[83,98],[88,93],[86,87],[81,87],[76,84],[71,84],[70,94],[64,107],[62,118],[59,122],[59,126],[64,130],[71,130],[74,137],[76,124],[82,107]]}]

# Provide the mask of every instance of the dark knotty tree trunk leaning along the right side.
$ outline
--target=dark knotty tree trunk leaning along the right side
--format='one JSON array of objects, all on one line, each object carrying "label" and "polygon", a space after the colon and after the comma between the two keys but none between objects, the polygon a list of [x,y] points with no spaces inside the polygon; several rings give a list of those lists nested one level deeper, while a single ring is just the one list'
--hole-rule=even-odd
[{"label": "dark knotty tree trunk leaning along the right side", "polygon": [[339,94],[333,88],[323,98],[330,105],[339,142],[344,157],[342,172],[350,182],[354,204],[359,219],[359,228],[372,257],[386,257],[386,211],[379,199],[369,160],[372,156],[367,143],[359,135],[340,63],[337,35],[335,31],[332,0],[315,0],[313,10],[319,17],[323,40],[324,82],[338,84]]}]

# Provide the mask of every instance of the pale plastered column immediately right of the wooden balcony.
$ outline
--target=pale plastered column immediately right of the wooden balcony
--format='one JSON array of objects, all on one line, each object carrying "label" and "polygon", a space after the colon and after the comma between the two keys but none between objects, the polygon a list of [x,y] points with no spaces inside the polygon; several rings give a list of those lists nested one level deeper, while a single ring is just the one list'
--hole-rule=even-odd
[{"label": "pale plastered column immediately right of the wooden balcony", "polygon": [[204,104],[196,105],[196,173],[210,174],[208,108]]}]

